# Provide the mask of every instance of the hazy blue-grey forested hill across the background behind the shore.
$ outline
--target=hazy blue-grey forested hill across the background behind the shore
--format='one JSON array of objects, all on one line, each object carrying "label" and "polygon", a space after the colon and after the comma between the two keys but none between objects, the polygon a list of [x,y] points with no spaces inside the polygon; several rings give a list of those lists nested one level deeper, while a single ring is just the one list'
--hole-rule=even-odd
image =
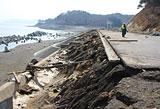
[{"label": "hazy blue-grey forested hill across the background behind the shore", "polygon": [[53,28],[55,25],[70,26],[93,26],[93,27],[120,27],[133,15],[122,15],[120,13],[109,15],[90,14],[85,11],[68,11],[62,13],[55,19],[39,20],[35,25],[41,28]]}]

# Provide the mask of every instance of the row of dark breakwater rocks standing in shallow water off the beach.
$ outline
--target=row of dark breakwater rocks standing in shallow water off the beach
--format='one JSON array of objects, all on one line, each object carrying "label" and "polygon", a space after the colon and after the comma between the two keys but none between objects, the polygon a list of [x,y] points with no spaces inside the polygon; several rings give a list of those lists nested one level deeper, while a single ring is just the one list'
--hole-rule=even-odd
[{"label": "row of dark breakwater rocks standing in shallow water off the beach", "polygon": [[[69,33],[66,33],[69,34]],[[55,40],[64,38],[60,33],[48,33],[36,31],[27,35],[9,35],[0,37],[0,52],[5,51],[5,48],[12,49],[21,44],[41,42],[43,40]]]}]

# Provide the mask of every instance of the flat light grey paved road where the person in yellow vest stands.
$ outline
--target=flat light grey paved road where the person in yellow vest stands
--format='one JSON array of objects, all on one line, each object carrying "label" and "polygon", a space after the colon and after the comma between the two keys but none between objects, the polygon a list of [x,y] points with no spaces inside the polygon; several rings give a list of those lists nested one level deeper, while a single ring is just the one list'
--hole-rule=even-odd
[{"label": "flat light grey paved road where the person in yellow vest stands", "polygon": [[[160,68],[160,36],[127,33],[126,38],[122,38],[121,32],[107,30],[100,30],[100,32],[106,37],[111,37],[109,42],[127,66]],[[137,40],[137,42],[119,40]]]}]

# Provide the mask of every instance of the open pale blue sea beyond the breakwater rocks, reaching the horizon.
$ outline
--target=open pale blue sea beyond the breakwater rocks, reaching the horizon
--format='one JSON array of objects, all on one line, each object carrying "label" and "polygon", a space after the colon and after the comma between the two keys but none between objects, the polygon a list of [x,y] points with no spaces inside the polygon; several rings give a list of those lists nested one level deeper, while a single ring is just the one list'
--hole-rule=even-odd
[{"label": "open pale blue sea beyond the breakwater rocks, reaching the horizon", "polygon": [[[36,24],[37,21],[26,20],[8,20],[0,21],[0,37],[8,35],[27,35],[35,31],[44,31],[49,33],[62,33],[61,30],[46,30],[38,27],[31,27]],[[30,26],[30,27],[29,27]]]}]

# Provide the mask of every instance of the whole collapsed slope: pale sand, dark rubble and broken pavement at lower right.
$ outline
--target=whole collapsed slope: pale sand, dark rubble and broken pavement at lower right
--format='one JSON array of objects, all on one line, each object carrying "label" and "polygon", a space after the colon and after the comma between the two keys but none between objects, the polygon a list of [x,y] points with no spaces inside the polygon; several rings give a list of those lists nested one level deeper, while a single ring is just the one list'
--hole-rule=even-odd
[{"label": "whole collapsed slope: pale sand, dark rubble and broken pavement at lower right", "polygon": [[160,70],[109,62],[97,30],[79,35],[26,77],[15,109],[160,108]]}]

